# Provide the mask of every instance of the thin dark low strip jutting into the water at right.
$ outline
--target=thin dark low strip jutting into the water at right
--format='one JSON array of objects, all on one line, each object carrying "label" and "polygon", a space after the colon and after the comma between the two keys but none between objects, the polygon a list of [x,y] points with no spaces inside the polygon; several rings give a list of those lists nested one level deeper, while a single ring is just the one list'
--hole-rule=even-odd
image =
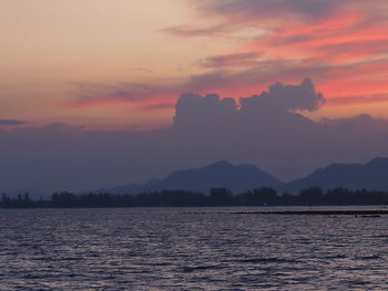
[{"label": "thin dark low strip jutting into the water at right", "polygon": [[307,215],[307,216],[381,216],[388,215],[388,210],[286,210],[286,211],[255,211],[233,212],[235,215]]}]

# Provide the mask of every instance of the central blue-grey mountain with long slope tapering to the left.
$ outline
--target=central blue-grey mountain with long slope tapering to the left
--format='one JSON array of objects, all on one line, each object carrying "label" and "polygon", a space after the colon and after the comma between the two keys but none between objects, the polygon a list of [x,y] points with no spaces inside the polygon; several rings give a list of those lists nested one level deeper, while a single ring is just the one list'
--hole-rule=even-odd
[{"label": "central blue-grey mountain with long slope tapering to the left", "polygon": [[214,187],[223,187],[233,193],[239,193],[258,187],[278,188],[280,186],[282,183],[277,178],[256,166],[234,166],[222,160],[203,168],[177,170],[165,179],[152,179],[144,185],[121,186],[110,191],[118,194],[163,189],[208,191]]}]

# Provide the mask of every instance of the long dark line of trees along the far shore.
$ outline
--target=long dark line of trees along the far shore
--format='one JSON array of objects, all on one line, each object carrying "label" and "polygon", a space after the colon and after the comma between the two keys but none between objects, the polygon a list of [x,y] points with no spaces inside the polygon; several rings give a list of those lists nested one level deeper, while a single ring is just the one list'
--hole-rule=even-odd
[{"label": "long dark line of trees along the far shore", "polygon": [[109,193],[55,193],[51,199],[33,200],[28,193],[10,198],[2,194],[2,208],[75,208],[75,207],[223,207],[223,206],[337,206],[388,205],[388,191],[334,188],[324,191],[309,187],[298,195],[278,195],[263,187],[233,195],[225,188],[212,188],[208,194],[187,190],[145,191],[136,195]]}]

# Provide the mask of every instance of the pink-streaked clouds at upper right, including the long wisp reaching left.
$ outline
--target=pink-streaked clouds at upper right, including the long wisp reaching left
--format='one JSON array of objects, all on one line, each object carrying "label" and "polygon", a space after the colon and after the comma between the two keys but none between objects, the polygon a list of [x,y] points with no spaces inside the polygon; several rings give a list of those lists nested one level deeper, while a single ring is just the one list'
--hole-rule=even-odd
[{"label": "pink-streaked clouds at upper right, including the long wisp reaching left", "polygon": [[[143,110],[165,110],[184,92],[219,92],[239,98],[256,94],[276,81],[312,77],[327,98],[388,92],[388,10],[385,1],[363,0],[193,0],[202,18],[197,27],[165,31],[176,37],[217,38],[246,27],[267,31],[244,39],[232,53],[198,61],[206,72],[186,81],[161,84],[91,85],[82,87],[74,107],[134,104]],[[314,4],[313,4],[314,3]],[[212,15],[218,24],[206,25]],[[333,102],[331,105],[344,104]],[[349,102],[348,104],[350,104]],[[161,104],[163,104],[161,106]],[[167,105],[166,105],[167,104]]]}]

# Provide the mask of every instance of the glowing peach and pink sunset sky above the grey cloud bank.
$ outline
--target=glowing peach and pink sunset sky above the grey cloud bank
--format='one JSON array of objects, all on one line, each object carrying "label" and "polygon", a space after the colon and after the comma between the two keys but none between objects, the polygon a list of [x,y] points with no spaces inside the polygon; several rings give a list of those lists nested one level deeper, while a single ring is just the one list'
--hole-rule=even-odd
[{"label": "glowing peach and pink sunset sky above the grey cloud bank", "polygon": [[0,119],[163,128],[183,93],[304,77],[314,119],[388,117],[387,31],[386,0],[0,0]]}]

